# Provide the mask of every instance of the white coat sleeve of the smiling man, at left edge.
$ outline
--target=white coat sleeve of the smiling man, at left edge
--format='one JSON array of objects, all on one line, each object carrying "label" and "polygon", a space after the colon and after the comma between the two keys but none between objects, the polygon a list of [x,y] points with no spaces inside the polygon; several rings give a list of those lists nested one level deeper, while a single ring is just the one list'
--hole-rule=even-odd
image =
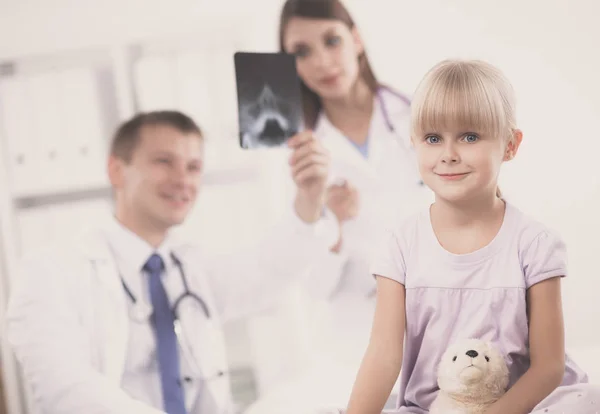
[{"label": "white coat sleeve of the smiling man, at left edge", "polygon": [[[7,311],[7,336],[35,405],[45,413],[164,414],[130,398],[90,363],[66,254],[23,261]],[[81,266],[79,268],[82,268]]]}]

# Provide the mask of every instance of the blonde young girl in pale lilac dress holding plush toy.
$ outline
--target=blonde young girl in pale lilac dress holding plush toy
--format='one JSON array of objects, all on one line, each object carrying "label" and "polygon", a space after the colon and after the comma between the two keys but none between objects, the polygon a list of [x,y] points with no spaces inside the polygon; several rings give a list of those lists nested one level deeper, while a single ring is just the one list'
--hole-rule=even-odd
[{"label": "blonde young girl in pale lilac dress holding plush toy", "polygon": [[564,350],[565,245],[498,190],[522,139],[511,85],[487,63],[444,61],[411,117],[435,202],[395,226],[373,264],[375,319],[347,413],[380,413],[401,367],[398,412],[427,413],[440,357],[465,338],[492,342],[509,365],[487,414],[598,412],[600,390]]}]

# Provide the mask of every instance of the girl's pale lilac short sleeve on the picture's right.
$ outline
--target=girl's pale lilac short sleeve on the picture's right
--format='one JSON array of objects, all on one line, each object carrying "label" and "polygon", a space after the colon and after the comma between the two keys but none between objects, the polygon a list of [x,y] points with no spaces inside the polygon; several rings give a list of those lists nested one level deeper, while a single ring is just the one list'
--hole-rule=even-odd
[{"label": "girl's pale lilac short sleeve on the picture's right", "polygon": [[522,255],[525,286],[567,275],[567,249],[562,238],[545,230],[539,233]]}]

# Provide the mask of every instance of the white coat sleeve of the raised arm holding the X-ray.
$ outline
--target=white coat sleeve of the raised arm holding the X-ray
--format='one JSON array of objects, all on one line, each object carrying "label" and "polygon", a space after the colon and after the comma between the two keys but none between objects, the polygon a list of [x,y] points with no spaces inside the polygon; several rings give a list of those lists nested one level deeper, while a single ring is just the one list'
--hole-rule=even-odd
[{"label": "white coat sleeve of the raised arm holding the X-ray", "polygon": [[209,280],[221,319],[275,305],[292,285],[329,291],[333,278],[322,277],[323,272],[317,278],[311,271],[320,269],[319,257],[335,242],[336,233],[335,220],[306,224],[289,214],[254,248],[212,257]]}]

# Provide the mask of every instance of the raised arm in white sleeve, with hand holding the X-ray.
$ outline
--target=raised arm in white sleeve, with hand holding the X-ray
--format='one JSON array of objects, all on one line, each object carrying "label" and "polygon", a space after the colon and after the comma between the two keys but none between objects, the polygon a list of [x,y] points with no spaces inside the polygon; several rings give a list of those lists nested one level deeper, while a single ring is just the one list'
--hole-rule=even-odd
[{"label": "raised arm in white sleeve, with hand holding the X-ray", "polygon": [[[311,268],[339,238],[332,214],[323,214],[329,156],[310,132],[290,141],[295,183],[293,208],[253,249],[211,261],[213,293],[221,317],[235,318],[274,304],[294,283],[307,283]],[[335,278],[336,276],[332,276]],[[328,278],[314,281],[328,289]]]}]

